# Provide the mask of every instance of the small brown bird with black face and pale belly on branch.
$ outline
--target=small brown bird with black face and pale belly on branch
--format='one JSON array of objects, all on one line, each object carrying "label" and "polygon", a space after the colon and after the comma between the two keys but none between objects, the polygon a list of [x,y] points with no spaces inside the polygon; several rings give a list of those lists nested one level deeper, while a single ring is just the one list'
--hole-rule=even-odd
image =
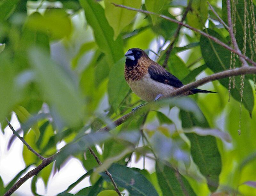
[{"label": "small brown bird with black face and pale belly on branch", "polygon": [[[146,102],[156,101],[183,86],[182,82],[151,60],[147,53],[139,48],[129,49],[125,55],[124,78],[132,91]],[[196,93],[216,93],[194,88],[184,95]]]}]

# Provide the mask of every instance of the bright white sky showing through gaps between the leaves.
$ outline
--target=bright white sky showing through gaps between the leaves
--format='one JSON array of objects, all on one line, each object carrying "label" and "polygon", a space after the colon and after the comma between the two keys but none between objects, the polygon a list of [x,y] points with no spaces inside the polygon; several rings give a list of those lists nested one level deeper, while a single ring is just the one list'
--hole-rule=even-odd
[{"label": "bright white sky showing through gaps between the leaves", "polygon": [[[173,11],[176,12],[177,14],[180,13],[179,9],[178,10],[173,9]],[[76,19],[74,19],[74,18],[76,18]],[[75,26],[75,28],[80,28],[80,30],[81,30],[81,28],[84,28],[84,27],[81,26],[80,22],[78,22],[79,19],[81,19],[81,18],[79,18],[78,16],[75,16],[72,18],[72,22],[73,22],[73,25]],[[90,31],[90,29],[87,29],[87,30]],[[87,38],[80,37],[80,38],[82,40],[92,39],[92,37],[89,37],[89,38],[88,37]],[[78,39],[80,39],[80,38],[78,38]],[[81,40],[80,40],[80,43],[81,43]],[[186,45],[186,43],[187,43],[187,41],[182,39],[180,45],[184,46],[184,45]],[[157,51],[157,49],[158,49],[157,48],[157,40],[152,41],[150,48],[154,51]],[[54,45],[52,45],[51,50],[55,50],[52,52],[53,58],[54,59],[56,58],[55,60],[67,65],[65,62],[63,62],[62,57],[71,57],[71,56],[70,56],[70,54],[68,54],[69,51],[66,50],[63,45],[61,45],[59,43],[56,45],[54,44]],[[62,54],[60,55],[60,53],[62,53]],[[179,54],[179,56],[182,59],[184,59],[187,55],[188,55],[188,51],[185,51],[185,52]],[[152,59],[155,58],[155,55],[152,52],[149,53],[149,56]],[[66,60],[66,62],[68,61],[68,59],[65,59],[65,60]],[[186,59],[184,59],[184,60],[186,61]],[[201,77],[202,77],[202,74],[200,75],[200,78]],[[211,84],[208,84],[208,85],[211,85]],[[207,87],[207,89],[208,88],[209,87]],[[17,120],[16,115],[12,116],[11,124],[15,130],[18,130],[20,128],[20,124]],[[4,132],[5,132],[5,134],[0,132],[0,176],[2,177],[2,179],[4,181],[4,185],[6,186],[12,180],[12,178],[15,177],[20,172],[20,170],[23,170],[25,168],[25,163],[22,158],[22,149],[24,147],[23,143],[18,138],[16,138],[14,140],[10,150],[8,151],[7,144],[8,144],[9,139],[12,136],[12,131],[8,127],[4,130]],[[22,134],[21,134],[21,136],[22,136]],[[61,144],[59,144],[58,147],[60,148],[63,145],[64,144],[61,143]],[[140,159],[139,162],[135,163],[134,159],[135,158],[133,156],[132,162],[130,164],[128,164],[128,166],[143,169],[143,160]],[[25,174],[34,168],[35,168],[35,166],[30,167],[25,172]],[[153,172],[154,168],[155,168],[155,162],[146,158],[146,168],[149,171]],[[42,170],[41,172],[44,172],[44,170]],[[77,160],[76,158],[71,158],[68,161],[68,163],[60,169],[59,172],[55,173],[55,175],[53,175],[53,172],[51,173],[51,176],[50,176],[50,179],[48,182],[48,186],[46,189],[44,187],[43,180],[38,178],[37,183],[36,183],[37,193],[42,194],[42,195],[47,195],[47,196],[56,195],[64,190],[66,190],[70,184],[74,183],[79,177],[84,175],[85,172],[86,172],[86,170],[84,169],[81,162],[79,160]],[[33,195],[32,192],[30,191],[31,179],[32,178],[30,178],[23,185],[21,185],[20,188],[13,195],[26,195],[26,196]],[[79,190],[81,190],[82,188],[87,187],[87,186],[90,186],[89,177],[86,177],[81,183],[79,183],[71,191],[71,193],[76,193]],[[128,193],[126,193],[126,195],[128,195]]]}]

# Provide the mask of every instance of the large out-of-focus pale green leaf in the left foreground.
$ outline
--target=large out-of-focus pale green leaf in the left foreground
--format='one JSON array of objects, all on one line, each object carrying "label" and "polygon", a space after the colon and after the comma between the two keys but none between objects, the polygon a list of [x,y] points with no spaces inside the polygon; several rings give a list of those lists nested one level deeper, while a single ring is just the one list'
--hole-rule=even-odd
[{"label": "large out-of-focus pale green leaf in the left foreground", "polygon": [[61,116],[58,119],[61,121],[60,126],[80,124],[84,119],[83,101],[75,81],[63,67],[50,60],[44,51],[30,49],[29,59],[36,71],[37,82],[44,90],[46,101]]}]

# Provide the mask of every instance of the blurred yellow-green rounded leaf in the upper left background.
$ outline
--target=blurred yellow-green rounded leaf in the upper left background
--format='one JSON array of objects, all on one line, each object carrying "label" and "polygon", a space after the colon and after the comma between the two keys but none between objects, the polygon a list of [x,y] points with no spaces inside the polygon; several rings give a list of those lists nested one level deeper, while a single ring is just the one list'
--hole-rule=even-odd
[{"label": "blurred yellow-green rounded leaf in the upper left background", "polygon": [[27,25],[32,30],[49,34],[52,39],[68,37],[72,32],[70,18],[62,9],[48,9],[43,16],[35,13],[29,17]]}]

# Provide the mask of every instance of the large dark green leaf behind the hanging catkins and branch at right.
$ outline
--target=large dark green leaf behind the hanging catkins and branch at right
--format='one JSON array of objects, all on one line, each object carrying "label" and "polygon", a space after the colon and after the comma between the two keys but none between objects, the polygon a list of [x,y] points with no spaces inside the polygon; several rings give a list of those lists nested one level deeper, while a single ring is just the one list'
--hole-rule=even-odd
[{"label": "large dark green leaf behind the hanging catkins and branch at right", "polygon": [[[223,38],[216,33],[215,31],[211,29],[207,29],[208,33],[220,40],[223,40]],[[223,48],[222,46],[214,43],[213,41],[210,41],[208,38],[201,36],[200,39],[200,47],[204,58],[204,61],[213,72],[221,72],[224,70],[228,70],[230,66],[230,52]],[[236,60],[237,64],[240,64],[238,60]],[[238,66],[238,65],[236,65]],[[228,89],[229,79],[224,78],[219,80],[220,83]],[[235,77],[235,88],[231,89],[231,95],[234,99],[236,99],[238,102],[241,102],[241,96],[240,96],[240,83],[241,79],[240,76]],[[244,107],[252,113],[253,107],[254,107],[254,96],[253,96],[253,90],[249,83],[248,78],[245,76],[244,79],[244,93],[243,93],[243,104]]]}]

